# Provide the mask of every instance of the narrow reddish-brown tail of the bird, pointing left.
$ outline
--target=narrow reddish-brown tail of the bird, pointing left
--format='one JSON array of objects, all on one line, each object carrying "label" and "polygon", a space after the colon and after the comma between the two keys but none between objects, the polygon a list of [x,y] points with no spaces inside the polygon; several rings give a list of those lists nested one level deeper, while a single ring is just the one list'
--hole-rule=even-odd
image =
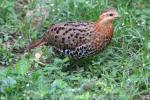
[{"label": "narrow reddish-brown tail of the bird, pointing left", "polygon": [[31,49],[42,46],[44,44],[47,44],[47,42],[43,38],[39,39],[37,41],[32,42],[30,45],[26,46],[25,51],[30,51]]}]

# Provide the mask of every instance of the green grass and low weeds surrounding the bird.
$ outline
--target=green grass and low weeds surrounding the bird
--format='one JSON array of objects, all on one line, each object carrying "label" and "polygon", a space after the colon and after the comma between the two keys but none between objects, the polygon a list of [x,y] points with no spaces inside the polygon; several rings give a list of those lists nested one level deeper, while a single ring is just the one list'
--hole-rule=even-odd
[{"label": "green grass and low weeds surrounding the bird", "polygon": [[[149,0],[25,1],[0,1],[1,100],[150,99]],[[122,19],[114,23],[109,47],[89,64],[64,71],[66,58],[55,56],[51,47],[20,52],[49,25],[96,21],[100,12],[111,6]]]}]

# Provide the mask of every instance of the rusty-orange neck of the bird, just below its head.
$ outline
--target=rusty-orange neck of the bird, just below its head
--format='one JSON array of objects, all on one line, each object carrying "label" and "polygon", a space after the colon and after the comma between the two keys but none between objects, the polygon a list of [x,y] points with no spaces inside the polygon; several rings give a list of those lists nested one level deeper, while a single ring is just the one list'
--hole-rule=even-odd
[{"label": "rusty-orange neck of the bird, just below its head", "polygon": [[95,31],[97,32],[97,34],[112,36],[113,34],[112,22],[108,22],[108,23],[103,21],[96,22]]}]

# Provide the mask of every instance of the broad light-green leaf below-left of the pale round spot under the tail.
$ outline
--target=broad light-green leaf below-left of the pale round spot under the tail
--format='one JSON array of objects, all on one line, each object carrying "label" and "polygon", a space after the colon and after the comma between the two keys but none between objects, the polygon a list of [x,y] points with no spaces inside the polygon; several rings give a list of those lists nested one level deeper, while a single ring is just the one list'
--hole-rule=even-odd
[{"label": "broad light-green leaf below-left of the pale round spot under the tail", "polygon": [[23,58],[16,64],[16,71],[18,74],[26,74],[30,68],[30,62],[28,59]]}]

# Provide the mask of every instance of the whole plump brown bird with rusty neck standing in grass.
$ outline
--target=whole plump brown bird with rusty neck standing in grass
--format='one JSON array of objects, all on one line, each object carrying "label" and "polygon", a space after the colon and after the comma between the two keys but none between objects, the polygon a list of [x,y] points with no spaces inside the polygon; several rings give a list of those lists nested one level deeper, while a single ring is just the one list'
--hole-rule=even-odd
[{"label": "whole plump brown bird with rusty neck standing in grass", "polygon": [[111,42],[113,21],[121,16],[117,10],[104,10],[97,21],[61,22],[51,25],[42,38],[26,47],[29,51],[41,45],[50,45],[54,53],[81,59],[100,53]]}]

